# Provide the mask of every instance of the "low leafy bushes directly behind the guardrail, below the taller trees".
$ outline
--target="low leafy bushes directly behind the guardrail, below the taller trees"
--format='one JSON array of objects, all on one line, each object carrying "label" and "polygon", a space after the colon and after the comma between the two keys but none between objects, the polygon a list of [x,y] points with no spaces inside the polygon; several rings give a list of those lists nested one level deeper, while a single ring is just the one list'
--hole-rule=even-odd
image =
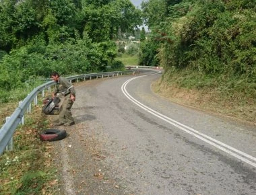
[{"label": "low leafy bushes directly behind the guardrail, below the taller trees", "polygon": [[40,50],[34,46],[22,47],[3,56],[0,87],[20,87],[29,79],[47,78],[52,71],[61,75],[104,71],[115,54],[113,42],[92,43],[85,39],[75,43],[41,45]]}]

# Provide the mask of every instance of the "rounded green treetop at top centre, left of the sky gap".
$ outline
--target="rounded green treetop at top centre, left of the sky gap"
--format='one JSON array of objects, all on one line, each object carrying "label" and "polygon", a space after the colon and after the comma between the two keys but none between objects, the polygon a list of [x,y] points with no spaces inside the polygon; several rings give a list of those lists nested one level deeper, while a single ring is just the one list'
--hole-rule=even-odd
[{"label": "rounded green treetop at top centre, left of the sky gap", "polygon": [[[86,1],[88,3],[88,1]],[[129,0],[90,3],[83,7],[80,24],[96,42],[133,32],[141,24],[140,11]]]}]

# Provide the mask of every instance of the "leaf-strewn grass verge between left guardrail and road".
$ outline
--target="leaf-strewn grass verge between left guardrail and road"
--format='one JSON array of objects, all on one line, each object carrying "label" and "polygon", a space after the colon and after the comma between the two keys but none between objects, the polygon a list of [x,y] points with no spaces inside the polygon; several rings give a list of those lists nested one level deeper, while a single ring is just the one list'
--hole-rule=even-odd
[{"label": "leaf-strewn grass verge between left guardrail and road", "polygon": [[[1,120],[10,114],[3,110],[5,106],[12,108],[1,104],[0,111],[6,112],[0,115]],[[0,195],[54,194],[57,188],[51,146],[39,140],[38,134],[49,124],[41,109],[35,106],[31,114],[26,114],[26,123],[18,126],[13,135],[14,150],[0,156]]]}]

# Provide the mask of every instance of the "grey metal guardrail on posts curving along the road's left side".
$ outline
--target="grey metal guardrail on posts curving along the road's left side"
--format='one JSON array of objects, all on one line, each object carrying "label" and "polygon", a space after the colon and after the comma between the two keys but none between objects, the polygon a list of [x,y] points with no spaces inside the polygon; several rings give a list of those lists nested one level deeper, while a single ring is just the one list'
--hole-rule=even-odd
[{"label": "grey metal guardrail on posts curving along the road's left side", "polygon": [[[126,75],[127,73],[134,74],[135,71],[115,71],[115,72],[107,72],[107,73],[92,73],[86,75],[76,75],[67,77],[70,81],[83,79],[97,79],[103,77],[114,77],[118,75]],[[48,80],[48,79],[46,79]],[[24,114],[25,112],[31,112],[32,102],[34,101],[34,105],[37,105],[37,97],[38,93],[42,92],[42,97],[44,97],[44,89],[48,88],[49,92],[51,92],[51,86],[55,85],[55,81],[48,81],[38,87],[36,87],[33,91],[28,94],[28,96],[20,102],[20,106],[16,108],[16,110],[11,114],[10,117],[6,118],[5,124],[0,129],[0,155],[3,151],[13,150],[13,133],[19,124],[24,124]]]}]

